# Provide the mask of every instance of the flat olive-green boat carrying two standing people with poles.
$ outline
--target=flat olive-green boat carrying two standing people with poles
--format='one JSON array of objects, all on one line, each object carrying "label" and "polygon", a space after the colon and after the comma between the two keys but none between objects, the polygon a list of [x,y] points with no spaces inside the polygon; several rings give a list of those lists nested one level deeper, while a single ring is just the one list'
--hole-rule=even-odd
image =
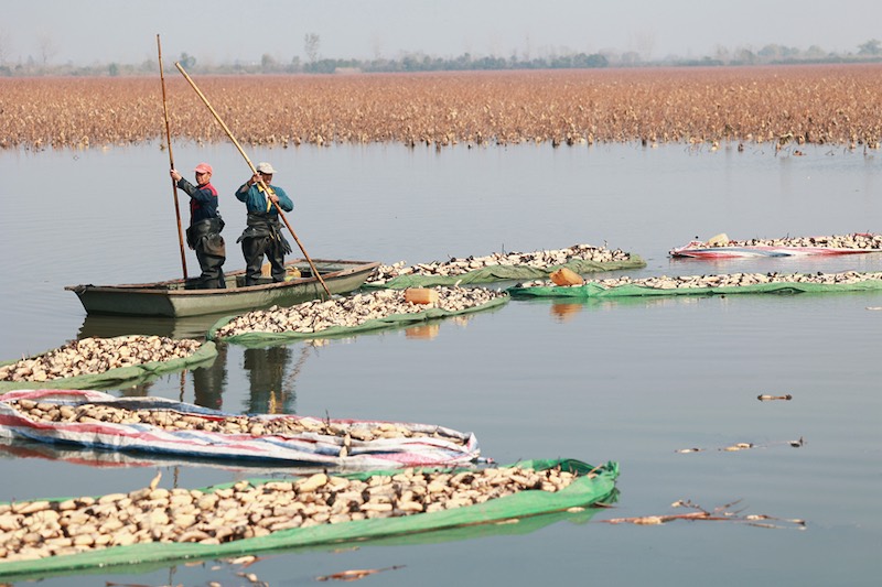
[{"label": "flat olive-green boat carrying two standing people with poles", "polygon": [[[313,259],[313,264],[332,294],[357,290],[379,267],[378,261]],[[326,296],[305,259],[286,263],[288,278],[275,283],[269,278],[245,286],[245,270],[227,273],[226,289],[198,290],[194,280],[123,285],[68,285],[87,314],[121,316],[202,316],[234,314],[272,305],[290,306]]]}]

